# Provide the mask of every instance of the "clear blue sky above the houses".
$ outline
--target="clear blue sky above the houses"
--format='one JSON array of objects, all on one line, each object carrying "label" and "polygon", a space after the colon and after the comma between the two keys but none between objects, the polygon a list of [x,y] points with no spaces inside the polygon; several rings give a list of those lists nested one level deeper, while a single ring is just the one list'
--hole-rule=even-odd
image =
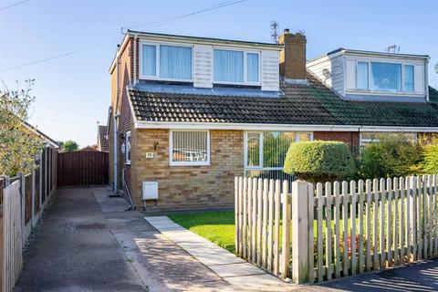
[{"label": "clear blue sky above the houses", "polygon": [[[121,26],[150,23],[223,3],[212,1],[0,0],[0,77],[35,78],[31,123],[57,141],[81,147],[96,142],[96,122],[107,122],[108,69]],[[15,5],[18,4],[18,5]],[[15,5],[5,8],[9,5]],[[4,9],[2,9],[4,8]],[[305,31],[308,58],[337,47],[428,54],[438,63],[438,1],[246,0],[164,24],[135,27],[150,32],[270,41],[270,22],[280,31]],[[14,68],[68,54],[46,62]],[[430,84],[438,75],[430,67]],[[10,69],[13,68],[13,69]]]}]

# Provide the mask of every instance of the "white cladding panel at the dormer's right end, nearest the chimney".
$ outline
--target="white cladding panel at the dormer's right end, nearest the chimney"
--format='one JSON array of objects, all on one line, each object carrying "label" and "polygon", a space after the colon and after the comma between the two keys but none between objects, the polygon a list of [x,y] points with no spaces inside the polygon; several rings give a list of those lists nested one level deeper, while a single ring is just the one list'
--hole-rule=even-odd
[{"label": "white cladding panel at the dormer's right end, nearest the chimney", "polygon": [[278,91],[279,90],[279,67],[278,51],[263,50],[261,57],[261,80],[262,90]]}]

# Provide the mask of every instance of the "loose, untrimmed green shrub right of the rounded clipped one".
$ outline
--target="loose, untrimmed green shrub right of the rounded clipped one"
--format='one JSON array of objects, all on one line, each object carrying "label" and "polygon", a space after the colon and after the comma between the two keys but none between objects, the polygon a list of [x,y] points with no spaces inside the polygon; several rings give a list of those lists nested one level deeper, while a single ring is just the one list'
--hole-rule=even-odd
[{"label": "loose, untrimmed green shrub right of the rounded clipped one", "polygon": [[422,146],[401,137],[382,138],[360,151],[360,178],[373,179],[417,174],[422,160]]}]

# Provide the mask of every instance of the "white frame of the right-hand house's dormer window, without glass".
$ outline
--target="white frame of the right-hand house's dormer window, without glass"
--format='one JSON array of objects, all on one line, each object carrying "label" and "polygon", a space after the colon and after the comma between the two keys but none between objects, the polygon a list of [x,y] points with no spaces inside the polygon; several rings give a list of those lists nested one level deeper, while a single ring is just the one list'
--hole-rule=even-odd
[{"label": "white frame of the right-hand house's dormer window, without glass", "polygon": [[[381,94],[384,95],[392,95],[392,94],[415,94],[415,75],[413,75],[413,90],[412,91],[406,91],[404,89],[404,67],[405,66],[412,66],[413,67],[413,74],[415,74],[415,64],[413,64],[412,62],[402,62],[399,60],[381,60],[381,59],[356,59],[355,60],[356,64],[355,64],[355,84],[354,84],[354,89],[355,91],[360,91],[360,92],[367,92],[367,93],[374,93],[374,92],[379,92]],[[358,89],[358,68],[359,68],[359,63],[367,63],[368,64],[368,89]],[[370,89],[370,79],[371,79],[371,63],[388,63],[388,64],[396,64],[396,65],[401,65],[401,85],[400,85],[400,89],[401,91],[384,91],[384,90],[372,90]]]}]

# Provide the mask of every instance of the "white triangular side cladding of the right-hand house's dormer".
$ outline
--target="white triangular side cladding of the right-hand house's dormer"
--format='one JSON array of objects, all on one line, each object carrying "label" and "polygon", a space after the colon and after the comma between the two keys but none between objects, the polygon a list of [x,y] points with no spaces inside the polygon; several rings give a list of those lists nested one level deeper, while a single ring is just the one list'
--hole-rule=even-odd
[{"label": "white triangular side cladding of the right-hand house's dormer", "polygon": [[339,94],[343,94],[344,64],[342,57],[323,57],[320,61],[309,62],[307,68],[325,85]]}]

